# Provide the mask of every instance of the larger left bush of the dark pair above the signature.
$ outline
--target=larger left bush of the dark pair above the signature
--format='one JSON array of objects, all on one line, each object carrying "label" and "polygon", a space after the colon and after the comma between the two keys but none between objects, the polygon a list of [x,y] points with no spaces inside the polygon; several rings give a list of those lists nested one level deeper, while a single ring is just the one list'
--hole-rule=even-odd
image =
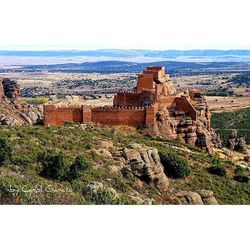
[{"label": "larger left bush of the dark pair above the signature", "polygon": [[62,153],[47,152],[38,156],[43,169],[41,176],[52,180],[65,180],[69,171],[69,164]]}]

